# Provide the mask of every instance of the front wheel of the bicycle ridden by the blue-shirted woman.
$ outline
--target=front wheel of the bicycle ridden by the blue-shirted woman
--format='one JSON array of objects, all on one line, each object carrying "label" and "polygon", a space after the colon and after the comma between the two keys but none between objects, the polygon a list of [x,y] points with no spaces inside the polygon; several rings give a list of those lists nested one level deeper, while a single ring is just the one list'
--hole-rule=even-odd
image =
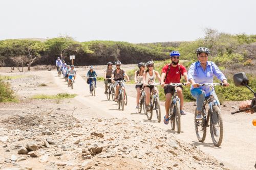
[{"label": "front wheel of the bicycle ridden by the blue-shirted woman", "polygon": [[[217,124],[214,125],[212,123],[212,116],[210,117],[210,135],[211,135],[211,139],[212,142],[214,142],[214,145],[216,147],[219,147],[221,145],[222,139],[223,139],[223,122],[222,122],[222,117],[221,117],[221,110],[219,108],[219,106],[215,105],[212,106],[212,113],[216,114],[217,116]],[[216,128],[219,131],[219,134],[215,134],[214,133],[214,128]]]}]

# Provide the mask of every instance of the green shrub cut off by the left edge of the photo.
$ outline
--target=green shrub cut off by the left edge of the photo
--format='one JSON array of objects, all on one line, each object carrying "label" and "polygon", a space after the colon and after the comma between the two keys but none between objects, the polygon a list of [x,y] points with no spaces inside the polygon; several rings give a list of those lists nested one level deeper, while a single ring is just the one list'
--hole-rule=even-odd
[{"label": "green shrub cut off by the left edge of the photo", "polygon": [[0,79],[0,102],[17,102],[14,91],[9,83]]}]

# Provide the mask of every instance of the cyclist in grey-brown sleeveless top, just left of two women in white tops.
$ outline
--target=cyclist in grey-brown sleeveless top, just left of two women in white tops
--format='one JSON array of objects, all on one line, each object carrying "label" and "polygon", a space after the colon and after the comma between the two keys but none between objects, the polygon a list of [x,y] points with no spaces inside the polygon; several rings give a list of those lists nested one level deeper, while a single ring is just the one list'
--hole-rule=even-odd
[{"label": "cyclist in grey-brown sleeveless top, just left of two women in white tops", "polygon": [[[127,79],[127,82],[130,81],[130,78],[129,76],[127,76],[126,72],[121,68],[121,62],[120,61],[116,61],[115,62],[115,65],[116,65],[116,69],[114,69],[112,71],[112,76],[111,76],[111,81],[114,84],[114,86],[116,87],[116,93],[115,93],[115,102],[117,102],[117,96],[118,96],[118,93],[119,93],[119,88],[120,88],[120,85],[118,82],[115,82],[115,81],[121,81],[121,80],[124,80],[124,77]],[[123,93],[125,94],[125,86],[124,86],[124,83],[122,82],[121,83],[121,87],[123,88]],[[125,98],[125,95],[124,95],[124,101],[126,100]]]}]

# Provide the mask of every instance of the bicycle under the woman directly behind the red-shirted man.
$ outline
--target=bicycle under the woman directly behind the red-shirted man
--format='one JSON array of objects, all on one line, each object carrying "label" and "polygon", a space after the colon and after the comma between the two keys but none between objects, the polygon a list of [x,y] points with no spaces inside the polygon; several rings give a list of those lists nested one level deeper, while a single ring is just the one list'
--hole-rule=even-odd
[{"label": "bicycle under the woman directly behind the red-shirted man", "polygon": [[151,120],[152,116],[153,116],[153,110],[156,110],[157,120],[160,123],[161,122],[161,107],[160,107],[160,102],[159,102],[159,95],[156,91],[156,85],[157,84],[154,84],[154,91],[152,91],[151,95],[150,95],[150,106],[151,106],[150,112],[148,113],[148,111],[146,111],[146,109],[145,109],[145,114],[147,116],[147,119]]}]

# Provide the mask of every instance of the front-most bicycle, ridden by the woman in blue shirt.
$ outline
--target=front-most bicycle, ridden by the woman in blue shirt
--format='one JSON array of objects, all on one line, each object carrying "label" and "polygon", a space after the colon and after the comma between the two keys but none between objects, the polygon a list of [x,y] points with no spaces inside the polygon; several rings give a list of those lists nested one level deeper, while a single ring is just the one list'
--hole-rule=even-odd
[{"label": "front-most bicycle, ridden by the woman in blue shirt", "polygon": [[[209,127],[209,121],[210,121],[210,134],[212,142],[214,142],[214,145],[216,147],[219,147],[221,145],[222,139],[223,139],[223,122],[221,117],[221,110],[220,107],[216,103],[216,99],[214,97],[214,94],[212,94],[212,89],[214,86],[224,86],[223,83],[203,83],[199,84],[199,86],[209,86],[210,87],[210,95],[205,98],[203,108],[202,108],[202,116],[203,119],[198,120],[196,119],[197,116],[197,109],[195,111],[195,129],[198,141],[204,142],[206,137],[206,128]],[[208,113],[206,114],[206,105],[208,104]],[[214,116],[217,118],[217,124],[214,124]],[[215,128],[219,128],[220,134],[217,135],[214,132]]]}]

